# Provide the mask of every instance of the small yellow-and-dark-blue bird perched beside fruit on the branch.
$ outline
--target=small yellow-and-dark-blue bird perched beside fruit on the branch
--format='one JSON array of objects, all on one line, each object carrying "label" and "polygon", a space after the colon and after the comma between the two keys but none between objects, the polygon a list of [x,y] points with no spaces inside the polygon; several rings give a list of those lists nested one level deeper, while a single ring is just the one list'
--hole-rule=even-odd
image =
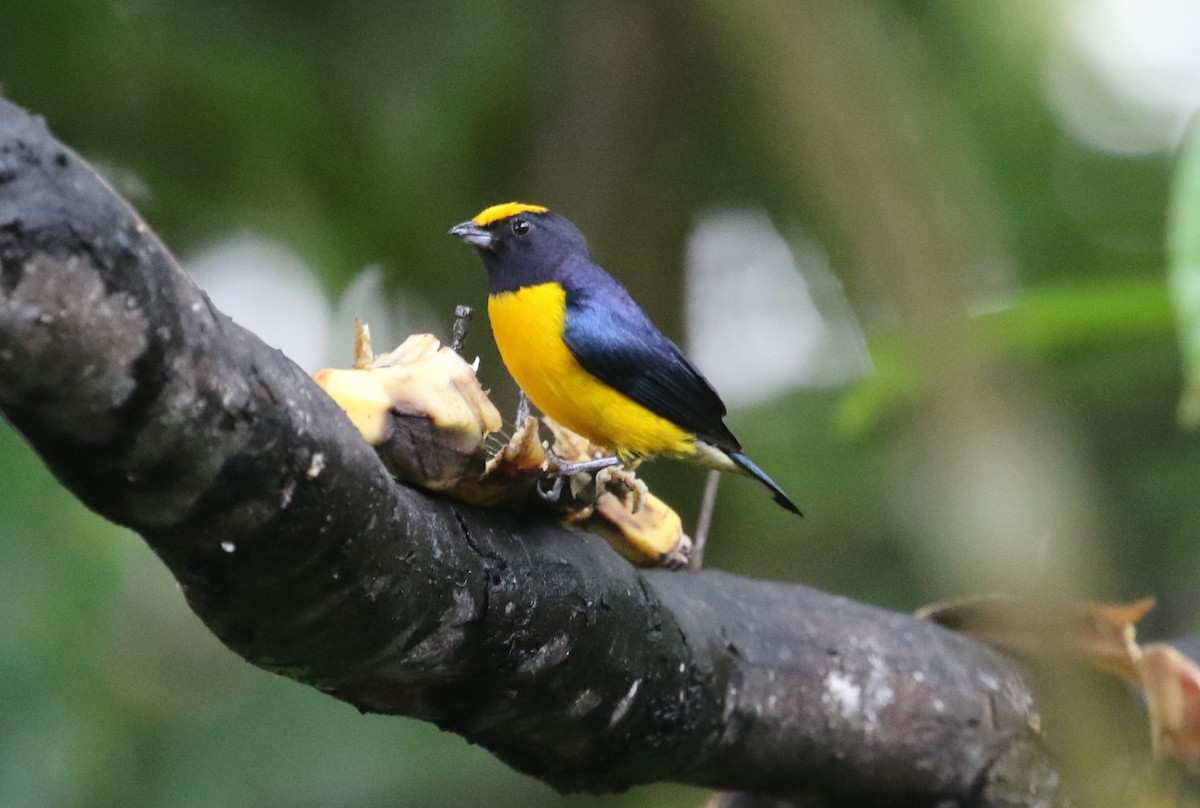
[{"label": "small yellow-and-dark-blue bird perched beside fruit on the branch", "polygon": [[542,413],[613,453],[580,466],[679,457],[754,478],[802,515],[743,453],[713,385],[592,261],[570,220],[506,202],[455,225],[450,235],[484,262],[492,334],[517,385]]}]

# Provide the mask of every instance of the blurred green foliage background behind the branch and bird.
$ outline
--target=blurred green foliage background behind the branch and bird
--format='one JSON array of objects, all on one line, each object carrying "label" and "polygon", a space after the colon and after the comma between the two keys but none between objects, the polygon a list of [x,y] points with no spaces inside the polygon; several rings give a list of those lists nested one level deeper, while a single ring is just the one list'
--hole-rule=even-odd
[{"label": "blurred green foliage background behind the branch and bird", "polygon": [[[726,479],[708,565],[906,611],[1153,594],[1142,636],[1196,630],[1200,447],[1180,401],[1200,361],[1200,5],[4,10],[4,95],[306,370],[348,364],[355,316],[388,347],[446,339],[469,304],[468,352],[510,412],[482,269],[446,229],[544,203],[688,347],[805,511]],[[690,522],[703,472],[646,477]],[[562,797],[251,668],[2,424],[0,492],[2,806],[704,798]]]}]

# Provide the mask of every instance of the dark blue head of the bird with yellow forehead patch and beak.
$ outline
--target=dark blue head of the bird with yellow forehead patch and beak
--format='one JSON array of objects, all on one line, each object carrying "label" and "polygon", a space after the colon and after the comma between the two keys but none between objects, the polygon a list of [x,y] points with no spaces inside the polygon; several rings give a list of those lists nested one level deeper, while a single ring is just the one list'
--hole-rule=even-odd
[{"label": "dark blue head of the bird with yellow forehead patch and beak", "polygon": [[562,281],[560,273],[575,263],[572,258],[588,258],[580,229],[541,205],[492,205],[469,222],[455,225],[450,234],[479,251],[492,294]]}]

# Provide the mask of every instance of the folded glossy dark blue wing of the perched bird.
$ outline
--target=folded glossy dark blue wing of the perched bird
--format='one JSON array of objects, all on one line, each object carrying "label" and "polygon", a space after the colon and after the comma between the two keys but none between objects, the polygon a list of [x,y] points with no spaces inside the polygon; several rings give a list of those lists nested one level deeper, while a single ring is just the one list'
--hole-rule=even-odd
[{"label": "folded glossy dark blue wing of the perched bird", "polygon": [[740,451],[713,385],[608,275],[568,285],[563,339],[608,387],[726,453]]}]

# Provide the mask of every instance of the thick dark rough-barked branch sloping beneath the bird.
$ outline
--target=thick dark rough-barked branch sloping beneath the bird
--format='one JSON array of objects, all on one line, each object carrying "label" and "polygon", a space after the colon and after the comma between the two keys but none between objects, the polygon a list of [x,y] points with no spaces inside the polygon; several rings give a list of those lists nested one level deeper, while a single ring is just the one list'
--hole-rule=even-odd
[{"label": "thick dark rough-barked branch sloping beneath the bird", "polygon": [[984,646],[803,586],[638,570],[593,535],[397,485],[2,100],[0,409],[234,652],[557,788],[1061,800],[1026,686]]}]

